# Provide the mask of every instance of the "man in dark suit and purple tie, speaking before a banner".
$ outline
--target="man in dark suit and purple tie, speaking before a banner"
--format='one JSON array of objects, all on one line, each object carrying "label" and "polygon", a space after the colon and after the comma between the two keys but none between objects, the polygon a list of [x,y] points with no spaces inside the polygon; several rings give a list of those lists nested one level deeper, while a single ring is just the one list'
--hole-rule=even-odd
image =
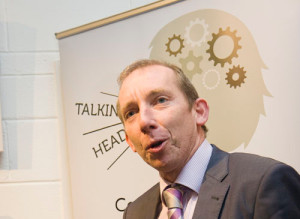
[{"label": "man in dark suit and purple tie, speaking before a banner", "polygon": [[[181,69],[140,60],[121,73],[119,84],[126,141],[160,175],[124,218],[300,218],[298,173],[269,158],[210,145],[209,107]],[[170,207],[174,191],[179,206]]]}]

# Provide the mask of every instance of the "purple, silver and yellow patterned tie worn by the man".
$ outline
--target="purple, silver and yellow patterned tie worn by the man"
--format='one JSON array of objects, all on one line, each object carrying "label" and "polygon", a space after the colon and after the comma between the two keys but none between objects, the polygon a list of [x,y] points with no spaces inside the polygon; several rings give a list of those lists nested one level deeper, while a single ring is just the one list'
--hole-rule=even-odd
[{"label": "purple, silver and yellow patterned tie worn by the man", "polygon": [[179,187],[167,187],[163,191],[163,199],[168,207],[169,219],[183,219],[183,206],[182,206],[183,192]]}]

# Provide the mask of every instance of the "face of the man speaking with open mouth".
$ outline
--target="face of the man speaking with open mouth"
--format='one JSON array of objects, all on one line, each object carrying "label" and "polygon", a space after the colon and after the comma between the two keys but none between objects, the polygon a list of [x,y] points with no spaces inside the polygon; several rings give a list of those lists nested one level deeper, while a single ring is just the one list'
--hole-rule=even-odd
[{"label": "face of the man speaking with open mouth", "polygon": [[175,73],[160,65],[133,71],[119,104],[132,150],[161,174],[179,173],[201,140],[197,106],[189,107]]}]

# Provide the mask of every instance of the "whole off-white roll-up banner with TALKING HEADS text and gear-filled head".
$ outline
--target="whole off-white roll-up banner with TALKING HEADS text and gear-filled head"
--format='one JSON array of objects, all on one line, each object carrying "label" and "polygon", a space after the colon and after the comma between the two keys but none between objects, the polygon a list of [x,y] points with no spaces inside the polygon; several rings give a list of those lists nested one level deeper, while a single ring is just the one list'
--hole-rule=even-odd
[{"label": "whole off-white roll-up banner with TALKING HEADS text and gear-filled head", "polygon": [[137,59],[184,70],[210,106],[210,143],[300,171],[300,1],[158,1],[57,38],[75,219],[121,218],[158,182],[116,113]]}]

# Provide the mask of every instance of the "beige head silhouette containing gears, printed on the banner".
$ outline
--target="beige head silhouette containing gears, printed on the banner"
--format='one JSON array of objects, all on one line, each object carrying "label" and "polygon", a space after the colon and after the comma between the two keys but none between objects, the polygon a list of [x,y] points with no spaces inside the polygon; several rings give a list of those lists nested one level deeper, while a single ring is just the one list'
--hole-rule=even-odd
[{"label": "beige head silhouette containing gears, printed on the banner", "polygon": [[247,27],[219,10],[198,10],[165,25],[150,58],[178,65],[210,106],[207,138],[226,151],[249,144],[270,96],[266,68]]}]

